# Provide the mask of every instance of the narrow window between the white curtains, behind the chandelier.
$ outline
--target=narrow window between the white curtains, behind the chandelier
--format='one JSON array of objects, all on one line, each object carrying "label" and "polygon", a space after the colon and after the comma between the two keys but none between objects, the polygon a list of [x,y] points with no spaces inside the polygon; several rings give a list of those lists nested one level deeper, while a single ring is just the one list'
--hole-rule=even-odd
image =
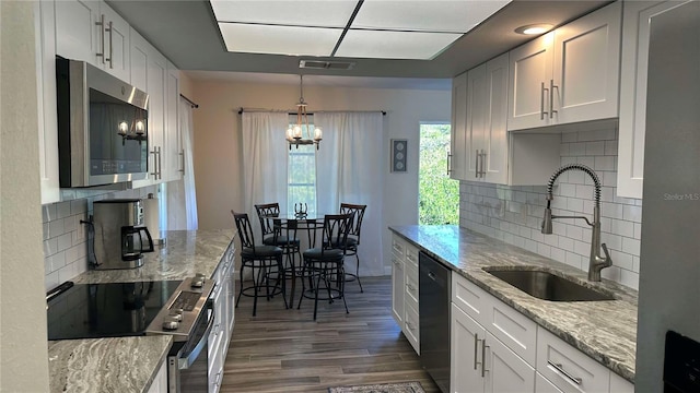
[{"label": "narrow window between the white curtains, behind the chandelier", "polygon": [[[296,124],[296,115],[290,115],[290,126]],[[303,127],[304,134],[306,126]],[[313,130],[313,116],[308,117]],[[299,145],[289,150],[287,174],[287,211],[294,212],[294,204],[306,204],[308,213],[316,213],[316,146]]]}]

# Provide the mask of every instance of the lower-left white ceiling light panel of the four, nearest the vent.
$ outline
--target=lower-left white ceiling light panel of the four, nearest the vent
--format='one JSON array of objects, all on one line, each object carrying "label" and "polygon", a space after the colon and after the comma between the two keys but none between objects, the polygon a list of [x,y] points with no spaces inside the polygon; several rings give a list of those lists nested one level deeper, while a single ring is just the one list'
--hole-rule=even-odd
[{"label": "lower-left white ceiling light panel of the four, nearest the vent", "polygon": [[219,23],[226,49],[233,52],[330,56],[341,28]]}]

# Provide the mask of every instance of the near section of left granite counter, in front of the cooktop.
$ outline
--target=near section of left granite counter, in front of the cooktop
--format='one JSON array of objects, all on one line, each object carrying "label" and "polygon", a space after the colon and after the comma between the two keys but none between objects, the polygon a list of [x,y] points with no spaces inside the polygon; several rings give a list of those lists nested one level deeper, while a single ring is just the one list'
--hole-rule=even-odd
[{"label": "near section of left granite counter, in front of the cooktop", "polygon": [[148,392],[173,336],[48,342],[50,392]]}]

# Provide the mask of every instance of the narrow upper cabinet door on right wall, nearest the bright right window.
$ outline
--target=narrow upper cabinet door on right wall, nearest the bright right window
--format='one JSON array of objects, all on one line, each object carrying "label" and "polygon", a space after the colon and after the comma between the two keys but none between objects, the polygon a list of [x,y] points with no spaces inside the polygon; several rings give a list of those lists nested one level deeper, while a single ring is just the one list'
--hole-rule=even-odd
[{"label": "narrow upper cabinet door on right wall, nearest the bright right window", "polygon": [[452,80],[452,128],[447,170],[455,180],[466,180],[467,73]]}]

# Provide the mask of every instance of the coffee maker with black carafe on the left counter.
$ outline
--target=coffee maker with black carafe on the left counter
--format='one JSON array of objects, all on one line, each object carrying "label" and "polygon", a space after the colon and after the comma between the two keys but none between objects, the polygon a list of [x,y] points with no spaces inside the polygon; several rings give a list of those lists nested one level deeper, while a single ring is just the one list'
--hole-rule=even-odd
[{"label": "coffee maker with black carafe on the left counter", "polygon": [[153,251],[140,199],[94,202],[92,224],[96,270],[139,267],[143,265],[143,253]]}]

